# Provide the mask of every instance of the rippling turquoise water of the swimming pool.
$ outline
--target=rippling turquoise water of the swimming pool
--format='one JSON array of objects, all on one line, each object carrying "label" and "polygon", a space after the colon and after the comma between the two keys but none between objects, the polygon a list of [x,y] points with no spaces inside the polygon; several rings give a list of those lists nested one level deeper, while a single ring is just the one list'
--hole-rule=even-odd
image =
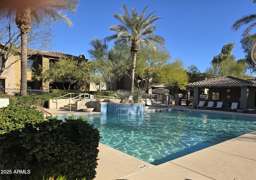
[{"label": "rippling turquoise water of the swimming pool", "polygon": [[100,143],[155,165],[256,130],[255,118],[176,110],[84,117]]}]

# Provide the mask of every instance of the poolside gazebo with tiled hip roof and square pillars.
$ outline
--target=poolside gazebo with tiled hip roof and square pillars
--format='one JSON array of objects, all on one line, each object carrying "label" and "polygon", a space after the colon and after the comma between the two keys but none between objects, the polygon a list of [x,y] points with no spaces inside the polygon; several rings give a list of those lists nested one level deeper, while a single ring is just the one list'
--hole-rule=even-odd
[{"label": "poolside gazebo with tiled hip roof and square pillars", "polygon": [[200,90],[208,88],[208,101],[224,102],[225,107],[230,107],[232,102],[238,102],[238,108],[256,109],[256,79],[242,79],[234,76],[208,78],[187,84],[194,89],[193,104],[200,101]]}]

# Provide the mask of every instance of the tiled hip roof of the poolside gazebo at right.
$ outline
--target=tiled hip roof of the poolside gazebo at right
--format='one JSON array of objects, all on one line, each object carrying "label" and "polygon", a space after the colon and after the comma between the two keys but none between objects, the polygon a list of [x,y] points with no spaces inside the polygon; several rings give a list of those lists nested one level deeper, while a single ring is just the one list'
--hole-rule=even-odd
[{"label": "tiled hip roof of the poolside gazebo at right", "polygon": [[255,79],[242,79],[234,76],[221,76],[217,78],[208,78],[197,82],[187,84],[188,87],[202,87],[202,86],[256,86]]}]

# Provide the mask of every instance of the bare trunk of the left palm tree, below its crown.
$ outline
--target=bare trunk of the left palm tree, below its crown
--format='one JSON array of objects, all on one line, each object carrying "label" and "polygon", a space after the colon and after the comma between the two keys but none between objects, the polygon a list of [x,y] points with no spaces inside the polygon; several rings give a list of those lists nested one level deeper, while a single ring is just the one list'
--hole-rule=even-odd
[{"label": "bare trunk of the left palm tree, below its crown", "polygon": [[20,75],[20,95],[27,94],[27,33],[21,33],[21,75]]}]

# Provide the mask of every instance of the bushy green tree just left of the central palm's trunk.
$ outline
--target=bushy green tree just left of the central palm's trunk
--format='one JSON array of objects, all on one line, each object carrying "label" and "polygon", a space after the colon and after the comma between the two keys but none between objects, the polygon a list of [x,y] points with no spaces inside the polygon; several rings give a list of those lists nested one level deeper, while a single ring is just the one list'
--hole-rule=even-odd
[{"label": "bushy green tree just left of the central palm's trunk", "polygon": [[116,42],[109,51],[106,42],[100,39],[92,40],[90,45],[92,48],[88,50],[88,53],[96,63],[97,71],[102,74],[111,90],[114,80],[120,80],[128,69],[127,61],[130,53],[127,53],[127,45]]}]

